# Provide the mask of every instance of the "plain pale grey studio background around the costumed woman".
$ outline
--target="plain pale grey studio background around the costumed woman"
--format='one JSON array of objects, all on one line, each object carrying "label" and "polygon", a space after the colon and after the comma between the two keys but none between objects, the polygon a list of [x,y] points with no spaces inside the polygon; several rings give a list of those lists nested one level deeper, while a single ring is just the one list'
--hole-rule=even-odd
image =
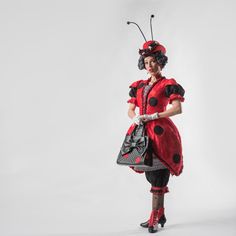
[{"label": "plain pale grey studio background around the costumed woman", "polygon": [[233,0],[1,1],[0,234],[146,235],[144,175],[116,164],[143,38],[185,89],[184,170],[162,235],[235,235]]}]

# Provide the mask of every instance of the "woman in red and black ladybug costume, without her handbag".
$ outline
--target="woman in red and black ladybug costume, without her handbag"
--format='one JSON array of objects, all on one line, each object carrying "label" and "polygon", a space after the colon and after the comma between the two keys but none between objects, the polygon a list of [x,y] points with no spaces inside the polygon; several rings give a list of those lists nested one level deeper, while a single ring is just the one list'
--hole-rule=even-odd
[{"label": "woman in red and black ladybug costume, without her handbag", "polygon": [[[139,69],[146,69],[150,77],[130,85],[128,116],[133,120],[127,134],[131,134],[136,125],[145,123],[146,134],[151,141],[149,155],[152,155],[151,167],[131,167],[137,173],[144,173],[151,184],[152,211],[149,220],[141,223],[150,233],[157,232],[158,224],[164,227],[164,194],[168,192],[170,174],[180,175],[183,169],[181,138],[178,129],[169,118],[182,113],[184,89],[174,79],[167,79],[161,70],[167,63],[166,49],[157,41],[147,41],[139,50]],[[169,109],[166,106],[171,104]],[[139,107],[139,114],[136,114]]]}]

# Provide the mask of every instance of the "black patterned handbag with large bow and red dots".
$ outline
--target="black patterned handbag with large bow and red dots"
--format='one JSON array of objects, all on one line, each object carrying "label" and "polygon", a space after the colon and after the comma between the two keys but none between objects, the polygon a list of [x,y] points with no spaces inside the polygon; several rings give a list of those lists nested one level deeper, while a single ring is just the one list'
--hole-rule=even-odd
[{"label": "black patterned handbag with large bow and red dots", "polygon": [[136,125],[130,135],[126,135],[118,154],[118,165],[147,167],[152,166],[151,155],[148,155],[149,138],[145,134],[145,125]]}]

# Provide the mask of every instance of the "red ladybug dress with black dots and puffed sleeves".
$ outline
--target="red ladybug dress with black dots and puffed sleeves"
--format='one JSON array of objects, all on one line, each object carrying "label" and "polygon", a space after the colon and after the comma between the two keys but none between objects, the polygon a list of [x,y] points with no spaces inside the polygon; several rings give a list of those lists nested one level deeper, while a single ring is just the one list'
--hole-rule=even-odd
[{"label": "red ladybug dress with black dots and puffed sleeves", "polygon": [[[152,114],[166,110],[168,103],[179,99],[185,100],[184,89],[175,79],[159,77],[150,87],[146,96],[143,96],[143,88],[150,82],[139,80],[132,83],[128,103],[139,107],[139,114]],[[132,124],[127,134],[131,134],[136,124]],[[180,175],[183,170],[183,154],[181,137],[178,129],[169,117],[148,121],[145,125],[146,133],[152,141],[152,150],[160,161],[170,170],[172,175]]]}]

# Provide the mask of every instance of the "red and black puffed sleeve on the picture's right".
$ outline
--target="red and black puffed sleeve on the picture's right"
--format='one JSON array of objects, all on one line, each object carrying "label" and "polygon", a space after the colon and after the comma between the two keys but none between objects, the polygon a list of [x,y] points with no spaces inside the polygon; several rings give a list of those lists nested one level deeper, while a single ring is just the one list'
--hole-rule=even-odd
[{"label": "red and black puffed sleeve on the picture's right", "polygon": [[167,85],[165,86],[165,96],[169,98],[169,103],[171,104],[175,99],[184,102],[184,94],[184,88],[178,84],[175,79],[169,79]]}]

